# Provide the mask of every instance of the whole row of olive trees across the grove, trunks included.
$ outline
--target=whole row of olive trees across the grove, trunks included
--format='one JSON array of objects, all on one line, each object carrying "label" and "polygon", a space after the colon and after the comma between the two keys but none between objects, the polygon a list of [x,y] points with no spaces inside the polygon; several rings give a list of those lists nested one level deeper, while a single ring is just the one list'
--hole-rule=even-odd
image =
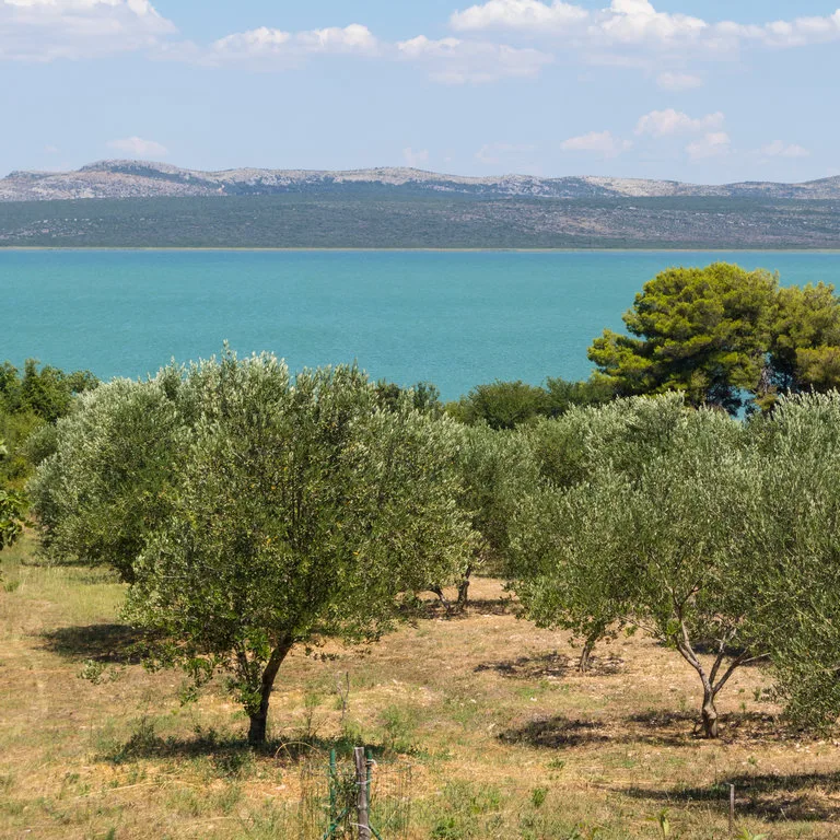
[{"label": "whole row of olive trees across the grove, trunks included", "polygon": [[153,666],[217,674],[266,739],[295,645],[375,640],[480,569],[526,617],[651,634],[697,673],[703,732],[766,665],[796,721],[840,713],[840,396],[748,420],[679,394],[465,425],[353,366],[262,354],[78,398],[30,492],[43,550],[113,567]]}]

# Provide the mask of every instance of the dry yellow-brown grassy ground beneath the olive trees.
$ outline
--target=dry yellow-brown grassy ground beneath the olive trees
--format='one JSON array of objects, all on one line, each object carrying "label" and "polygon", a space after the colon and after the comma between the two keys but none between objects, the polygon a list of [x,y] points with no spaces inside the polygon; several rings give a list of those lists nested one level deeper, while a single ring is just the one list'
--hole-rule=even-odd
[{"label": "dry yellow-brown grassy ground beneath the olive trees", "polygon": [[107,572],[44,568],[31,548],[1,563],[0,837],[299,837],[328,748],[362,740],[383,784],[411,790],[409,825],[384,840],[662,838],[664,812],[668,837],[724,838],[731,782],[738,837],[840,837],[838,744],[781,731],[758,669],[733,678],[724,737],[705,743],[674,653],[621,638],[579,676],[568,640],[483,580],[463,618],[430,605],[370,651],[295,652],[254,755],[221,686],[182,705],[178,674],[128,661]]}]

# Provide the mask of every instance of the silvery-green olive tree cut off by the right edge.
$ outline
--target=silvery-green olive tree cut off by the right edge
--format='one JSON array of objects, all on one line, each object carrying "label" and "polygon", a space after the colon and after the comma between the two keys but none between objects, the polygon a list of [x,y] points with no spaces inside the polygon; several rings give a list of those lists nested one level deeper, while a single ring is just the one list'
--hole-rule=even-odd
[{"label": "silvery-green olive tree cut off by the right edge", "polygon": [[783,398],[750,433],[761,504],[745,527],[777,695],[796,723],[828,728],[840,716],[840,395]]}]

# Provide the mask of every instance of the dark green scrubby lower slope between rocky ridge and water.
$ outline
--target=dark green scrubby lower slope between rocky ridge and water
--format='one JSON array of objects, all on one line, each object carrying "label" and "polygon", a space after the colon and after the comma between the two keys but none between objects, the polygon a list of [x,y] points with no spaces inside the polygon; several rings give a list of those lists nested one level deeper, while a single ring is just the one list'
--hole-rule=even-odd
[{"label": "dark green scrubby lower slope between rocky ridge and water", "polygon": [[552,199],[376,185],[335,194],[0,201],[0,246],[836,248],[840,203]]}]

